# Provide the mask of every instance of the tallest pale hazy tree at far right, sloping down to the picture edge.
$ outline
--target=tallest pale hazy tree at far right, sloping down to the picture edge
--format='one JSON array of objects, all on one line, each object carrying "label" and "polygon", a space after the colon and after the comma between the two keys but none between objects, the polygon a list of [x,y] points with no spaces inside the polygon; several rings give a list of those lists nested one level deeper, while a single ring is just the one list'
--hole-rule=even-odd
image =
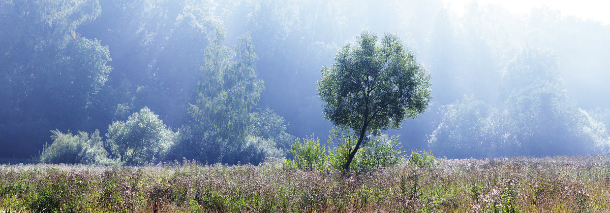
[{"label": "tallest pale hazy tree at far right, sloping down to the picture edge", "polygon": [[519,155],[605,152],[608,134],[567,96],[558,67],[554,51],[539,46],[525,47],[509,61],[499,93],[505,127],[494,132],[512,135]]}]

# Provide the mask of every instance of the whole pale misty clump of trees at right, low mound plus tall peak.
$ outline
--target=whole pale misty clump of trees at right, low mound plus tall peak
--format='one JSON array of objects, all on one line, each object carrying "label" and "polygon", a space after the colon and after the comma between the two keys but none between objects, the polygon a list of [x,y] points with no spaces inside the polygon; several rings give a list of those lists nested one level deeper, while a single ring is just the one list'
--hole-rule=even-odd
[{"label": "whole pale misty clump of trees at right, low mound plus tall peak", "polygon": [[445,105],[430,148],[448,158],[607,153],[606,126],[567,96],[557,66],[553,52],[523,49],[501,73],[504,101],[486,107],[465,96]]}]

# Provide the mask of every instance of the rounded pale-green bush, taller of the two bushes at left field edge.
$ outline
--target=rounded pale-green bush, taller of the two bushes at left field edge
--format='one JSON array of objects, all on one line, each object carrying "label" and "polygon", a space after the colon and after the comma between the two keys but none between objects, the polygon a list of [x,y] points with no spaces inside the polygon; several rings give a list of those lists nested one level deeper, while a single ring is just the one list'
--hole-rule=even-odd
[{"label": "rounded pale-green bush, taller of the two bushes at left field edge", "polygon": [[175,134],[145,107],[126,121],[115,121],[108,127],[106,147],[124,164],[142,165],[163,160]]}]

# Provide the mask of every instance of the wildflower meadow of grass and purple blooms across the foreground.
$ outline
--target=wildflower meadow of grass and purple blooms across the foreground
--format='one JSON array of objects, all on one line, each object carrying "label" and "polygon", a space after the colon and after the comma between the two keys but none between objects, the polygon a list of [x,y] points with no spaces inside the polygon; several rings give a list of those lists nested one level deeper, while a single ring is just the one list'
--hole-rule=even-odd
[{"label": "wildflower meadow of grass and purple blooms across the foreground", "polygon": [[443,159],[344,175],[174,162],[0,166],[10,212],[610,212],[610,156]]}]

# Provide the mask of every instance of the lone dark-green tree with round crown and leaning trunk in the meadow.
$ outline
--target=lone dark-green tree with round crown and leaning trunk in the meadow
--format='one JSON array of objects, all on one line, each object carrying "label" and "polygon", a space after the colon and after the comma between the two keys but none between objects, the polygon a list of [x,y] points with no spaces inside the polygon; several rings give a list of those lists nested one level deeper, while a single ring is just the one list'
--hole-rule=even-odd
[{"label": "lone dark-green tree with round crown and leaning trunk in the meadow", "polygon": [[359,136],[349,148],[344,169],[348,171],[367,134],[378,136],[387,128],[398,129],[407,118],[423,113],[432,98],[430,75],[404,49],[396,35],[364,31],[357,45],[345,44],[331,68],[323,67],[317,82],[318,95],[326,102],[325,118]]}]

